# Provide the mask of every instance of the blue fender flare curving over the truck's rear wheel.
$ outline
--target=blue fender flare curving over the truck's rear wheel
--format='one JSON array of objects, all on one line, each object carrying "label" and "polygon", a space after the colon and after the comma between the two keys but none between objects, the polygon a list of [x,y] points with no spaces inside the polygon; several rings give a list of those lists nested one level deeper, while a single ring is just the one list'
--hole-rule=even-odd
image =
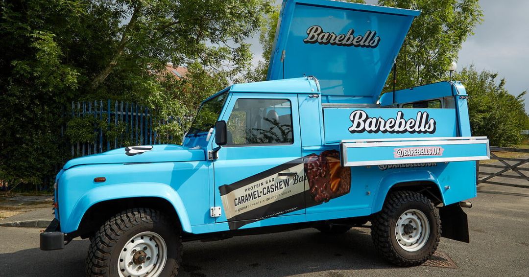
[{"label": "blue fender flare curving over the truck's rear wheel", "polygon": [[[372,214],[378,213],[382,209],[382,205],[384,205],[384,201],[386,200],[388,191],[395,184],[404,183],[404,182],[416,182],[416,181],[428,181],[428,182],[435,183],[435,185],[437,186],[437,189],[439,189],[439,191],[442,192],[441,185],[439,184],[439,181],[437,180],[437,176],[435,176],[435,174],[429,170],[412,170],[412,171],[390,173],[380,180],[380,183],[378,185],[378,190],[375,195],[375,199],[373,200],[373,205],[371,207],[371,213]],[[443,193],[441,193],[441,198],[442,198],[441,200],[444,203],[445,201],[444,201]]]}]

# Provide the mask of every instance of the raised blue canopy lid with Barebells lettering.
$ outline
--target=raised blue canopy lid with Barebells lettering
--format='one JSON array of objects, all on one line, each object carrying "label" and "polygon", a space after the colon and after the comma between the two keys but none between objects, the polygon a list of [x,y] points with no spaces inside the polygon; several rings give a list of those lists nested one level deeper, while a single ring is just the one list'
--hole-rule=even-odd
[{"label": "raised blue canopy lid with Barebells lettering", "polygon": [[[268,80],[315,76],[322,95],[374,103],[421,12],[327,0],[284,0]],[[368,100],[368,99],[364,99]]]}]

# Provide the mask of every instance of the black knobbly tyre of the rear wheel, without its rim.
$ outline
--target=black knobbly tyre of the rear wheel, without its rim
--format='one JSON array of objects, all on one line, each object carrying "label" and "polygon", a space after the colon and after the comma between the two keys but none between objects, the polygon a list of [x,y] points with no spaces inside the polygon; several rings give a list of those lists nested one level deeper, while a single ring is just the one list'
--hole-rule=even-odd
[{"label": "black knobbly tyre of the rear wheel, without its rim", "polygon": [[[409,209],[422,211],[430,226],[426,243],[415,252],[403,249],[396,237],[399,216]],[[399,266],[420,265],[432,256],[439,245],[441,238],[439,211],[432,201],[421,193],[414,191],[390,193],[382,210],[372,217],[371,238],[380,255],[389,262]]]}]

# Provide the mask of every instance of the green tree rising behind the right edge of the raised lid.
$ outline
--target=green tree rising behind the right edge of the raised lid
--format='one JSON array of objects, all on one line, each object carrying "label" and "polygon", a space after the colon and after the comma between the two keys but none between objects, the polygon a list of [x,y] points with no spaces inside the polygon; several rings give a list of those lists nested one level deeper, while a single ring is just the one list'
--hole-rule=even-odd
[{"label": "green tree rising behind the right edge of the raised lid", "polygon": [[[421,11],[397,57],[396,89],[446,78],[461,45],[482,21],[478,0],[379,0],[378,4]],[[386,89],[391,88],[390,75]]]}]

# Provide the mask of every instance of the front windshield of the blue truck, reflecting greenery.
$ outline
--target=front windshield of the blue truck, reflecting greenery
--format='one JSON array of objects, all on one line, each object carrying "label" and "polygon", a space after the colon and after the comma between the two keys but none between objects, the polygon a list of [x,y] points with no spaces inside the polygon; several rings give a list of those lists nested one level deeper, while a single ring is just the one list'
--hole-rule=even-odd
[{"label": "front windshield of the blue truck, reflecting greenery", "polygon": [[222,106],[224,106],[224,101],[228,91],[225,93],[219,94],[202,104],[198,109],[197,116],[191,124],[191,128],[187,135],[196,135],[198,133],[207,132],[210,128],[215,126],[218,116],[221,114]]}]

